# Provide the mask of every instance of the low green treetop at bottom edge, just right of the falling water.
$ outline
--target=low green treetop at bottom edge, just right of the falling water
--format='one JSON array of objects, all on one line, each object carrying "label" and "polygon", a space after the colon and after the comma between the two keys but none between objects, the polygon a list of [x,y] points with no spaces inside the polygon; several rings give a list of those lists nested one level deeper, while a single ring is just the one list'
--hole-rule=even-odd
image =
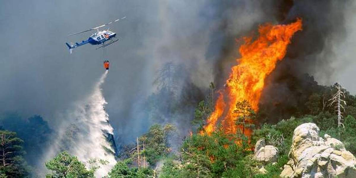
[{"label": "low green treetop at bottom edge, just right of the falling water", "polygon": [[154,174],[150,168],[130,168],[131,159],[125,159],[115,164],[114,168],[108,173],[109,178],[146,178]]}]

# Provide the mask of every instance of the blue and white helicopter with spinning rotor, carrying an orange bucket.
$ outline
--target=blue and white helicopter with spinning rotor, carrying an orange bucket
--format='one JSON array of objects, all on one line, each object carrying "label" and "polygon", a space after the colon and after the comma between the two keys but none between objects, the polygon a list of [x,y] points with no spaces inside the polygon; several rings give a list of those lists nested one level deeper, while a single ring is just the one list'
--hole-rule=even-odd
[{"label": "blue and white helicopter with spinning rotor, carrying an orange bucket", "polygon": [[[82,41],[82,42],[79,42],[79,43],[75,43],[75,45],[69,45],[68,43],[66,43],[66,45],[69,48],[70,54],[72,54],[72,51],[73,51],[74,48],[82,46],[82,45],[85,45],[87,43],[90,43],[91,45],[102,45],[102,46],[96,48],[96,49],[99,49],[99,48],[103,48],[105,46],[111,45],[112,43],[115,43],[116,41],[119,41],[119,38],[116,37],[116,33],[109,31],[109,28],[108,28],[108,30],[103,30],[103,31],[99,31],[99,28],[104,27],[106,25],[110,25],[113,22],[117,22],[117,21],[120,21],[121,19],[125,19],[125,18],[126,18],[126,16],[121,17],[120,19],[116,19],[114,21],[111,21],[109,23],[105,23],[104,25],[100,25],[98,27],[90,28],[88,30],[84,30],[84,31],[81,31],[81,32],[77,32],[77,33],[73,33],[73,34],[68,35],[68,36],[72,36],[72,35],[77,35],[79,33],[84,33],[84,32],[88,32],[88,31],[91,31],[91,30],[96,30],[95,33],[91,34],[91,36],[88,38],[87,41]],[[109,41],[109,43],[105,43],[106,41]]]}]

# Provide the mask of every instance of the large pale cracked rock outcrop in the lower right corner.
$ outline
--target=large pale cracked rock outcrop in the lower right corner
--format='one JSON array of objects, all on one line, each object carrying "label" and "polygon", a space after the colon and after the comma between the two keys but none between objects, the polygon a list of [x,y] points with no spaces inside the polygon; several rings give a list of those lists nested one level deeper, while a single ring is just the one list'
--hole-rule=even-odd
[{"label": "large pale cracked rock outcrop in the lower right corner", "polygon": [[341,141],[325,134],[313,123],[299,125],[293,133],[289,161],[281,177],[356,177],[356,158]]}]

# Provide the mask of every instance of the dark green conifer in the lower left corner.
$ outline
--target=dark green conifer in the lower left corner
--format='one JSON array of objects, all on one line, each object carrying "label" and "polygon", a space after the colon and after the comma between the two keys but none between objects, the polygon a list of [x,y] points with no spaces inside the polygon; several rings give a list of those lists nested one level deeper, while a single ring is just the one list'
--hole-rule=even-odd
[{"label": "dark green conifer in the lower left corner", "polygon": [[29,177],[30,167],[23,159],[23,141],[15,132],[0,130],[0,174],[7,177]]}]

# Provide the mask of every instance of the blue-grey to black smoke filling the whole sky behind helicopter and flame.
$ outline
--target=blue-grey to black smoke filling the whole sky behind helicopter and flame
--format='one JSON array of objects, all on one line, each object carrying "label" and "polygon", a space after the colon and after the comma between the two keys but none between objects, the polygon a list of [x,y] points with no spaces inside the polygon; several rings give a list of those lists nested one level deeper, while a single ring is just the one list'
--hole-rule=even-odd
[{"label": "blue-grey to black smoke filling the whole sky behind helicopter and flame", "polygon": [[[286,100],[293,102],[298,95],[290,81],[300,79],[300,86],[307,87],[304,73],[321,84],[340,81],[355,94],[355,6],[344,0],[1,1],[0,112],[39,114],[59,132],[58,125],[73,119],[63,115],[91,93],[108,59],[110,75],[102,86],[105,110],[117,145],[122,145],[153,122],[145,108],[150,96],[160,96],[158,106],[169,103],[170,93],[160,92],[155,81],[159,70],[172,64],[179,69],[171,76],[178,86],[177,102],[189,104],[174,114],[160,111],[162,122],[174,122],[184,135],[209,82],[221,87],[236,64],[236,39],[256,33],[261,23],[288,23],[296,17],[303,19],[303,31],[295,34],[286,58],[267,78],[261,100],[293,96]],[[85,45],[69,55],[65,42],[86,40],[90,32],[68,34],[124,15],[126,19],[110,26],[120,42],[104,50]]]}]

